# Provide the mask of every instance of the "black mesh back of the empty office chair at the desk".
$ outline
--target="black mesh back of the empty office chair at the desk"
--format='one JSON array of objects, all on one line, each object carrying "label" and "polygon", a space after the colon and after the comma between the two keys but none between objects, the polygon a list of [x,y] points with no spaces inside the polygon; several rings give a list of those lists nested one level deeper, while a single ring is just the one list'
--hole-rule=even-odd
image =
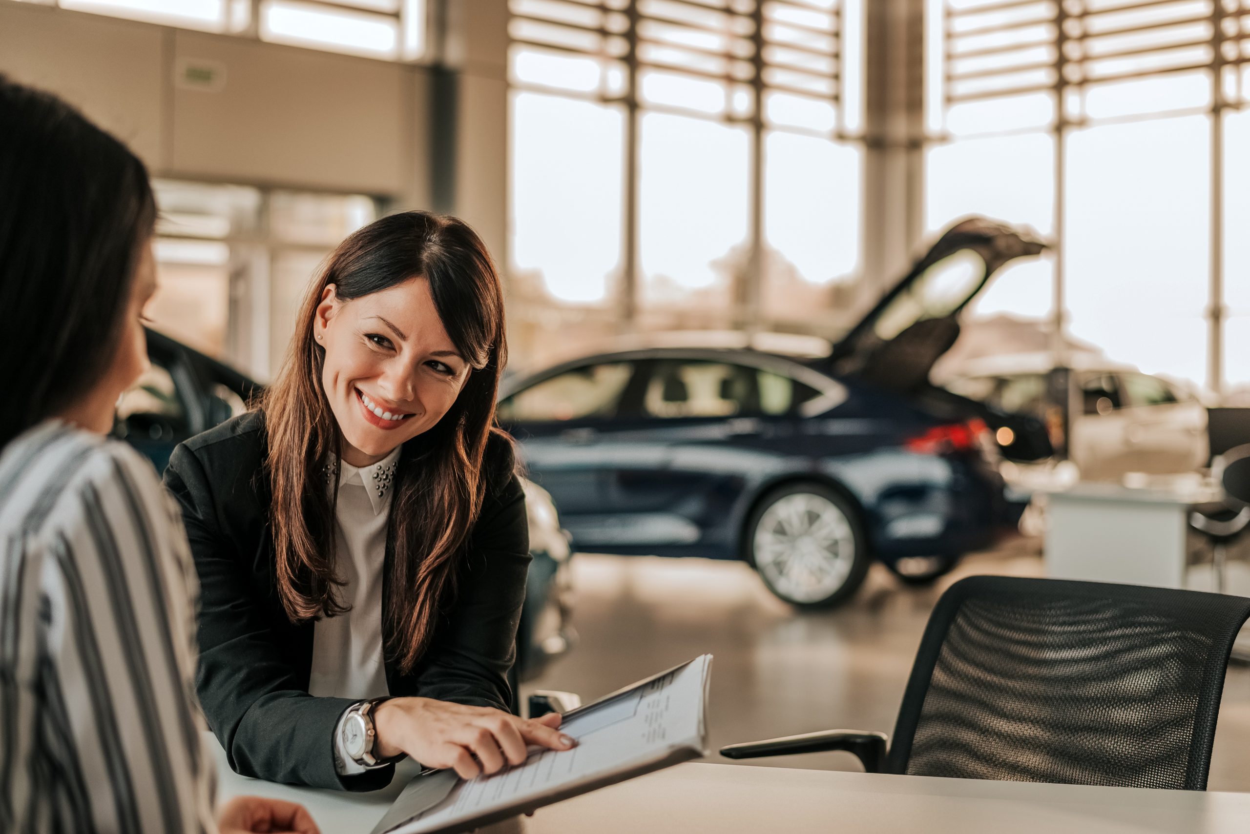
[{"label": "black mesh back of the empty office chair at the desk", "polygon": [[886,769],[1202,790],[1250,599],[971,577],[942,594]]}]

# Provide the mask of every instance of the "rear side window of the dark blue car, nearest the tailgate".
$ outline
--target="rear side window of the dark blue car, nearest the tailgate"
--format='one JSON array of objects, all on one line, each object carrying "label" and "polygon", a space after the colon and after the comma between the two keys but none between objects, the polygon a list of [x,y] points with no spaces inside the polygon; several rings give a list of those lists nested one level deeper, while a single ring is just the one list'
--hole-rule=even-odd
[{"label": "rear side window of the dark blue car, nearest the tailgate", "polygon": [[810,386],[761,368],[709,360],[656,362],[642,413],[680,417],[779,417],[819,396]]}]

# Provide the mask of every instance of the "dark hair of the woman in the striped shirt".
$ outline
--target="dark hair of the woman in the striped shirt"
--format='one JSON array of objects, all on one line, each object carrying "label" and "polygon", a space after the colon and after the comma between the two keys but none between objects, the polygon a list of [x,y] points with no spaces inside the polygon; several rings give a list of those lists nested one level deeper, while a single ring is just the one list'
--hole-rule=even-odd
[{"label": "dark hair of the woman in the striped shirt", "polygon": [[156,204],[125,145],[2,75],[0,195],[2,448],[108,371]]}]

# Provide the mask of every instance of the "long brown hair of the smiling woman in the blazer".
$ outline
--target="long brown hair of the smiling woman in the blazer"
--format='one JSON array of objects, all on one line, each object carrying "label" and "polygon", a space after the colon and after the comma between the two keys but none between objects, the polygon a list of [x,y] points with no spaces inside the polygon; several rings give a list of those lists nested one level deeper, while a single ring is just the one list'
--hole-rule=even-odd
[{"label": "long brown hair of the smiling woman in the blazer", "polygon": [[508,342],[502,287],[481,238],[454,217],[409,211],[342,241],[309,287],[282,371],[260,406],[282,607],[292,623],[341,614],[334,499],[324,471],[331,453],[341,453],[341,434],[321,386],[325,350],[312,320],[330,283],[351,301],[415,277],[429,282],[442,326],[471,371],[442,419],[404,444],[395,474],[382,624],[386,654],[405,673],[455,594],[459,557],[491,476],[482,471],[484,453],[498,432],[495,396]]}]

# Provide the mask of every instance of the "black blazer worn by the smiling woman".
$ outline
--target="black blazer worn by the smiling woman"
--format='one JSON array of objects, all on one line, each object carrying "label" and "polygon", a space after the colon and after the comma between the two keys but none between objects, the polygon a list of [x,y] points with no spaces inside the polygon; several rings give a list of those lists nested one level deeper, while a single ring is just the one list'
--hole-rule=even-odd
[{"label": "black blazer worn by the smiling woman", "polygon": [[[320,788],[382,788],[392,767],[351,777],[335,770],[335,725],[355,702],[309,694],[314,624],[291,624],[278,597],[265,447],[264,415],[252,412],[179,444],[165,471],[200,577],[200,704],[236,773]],[[488,443],[484,474],[486,498],[461,557],[458,598],[411,674],[386,662],[392,695],[509,708],[506,675],[530,554],[525,493],[501,438]],[[388,547],[388,564],[390,558]],[[390,604],[385,579],[382,599]]]}]

